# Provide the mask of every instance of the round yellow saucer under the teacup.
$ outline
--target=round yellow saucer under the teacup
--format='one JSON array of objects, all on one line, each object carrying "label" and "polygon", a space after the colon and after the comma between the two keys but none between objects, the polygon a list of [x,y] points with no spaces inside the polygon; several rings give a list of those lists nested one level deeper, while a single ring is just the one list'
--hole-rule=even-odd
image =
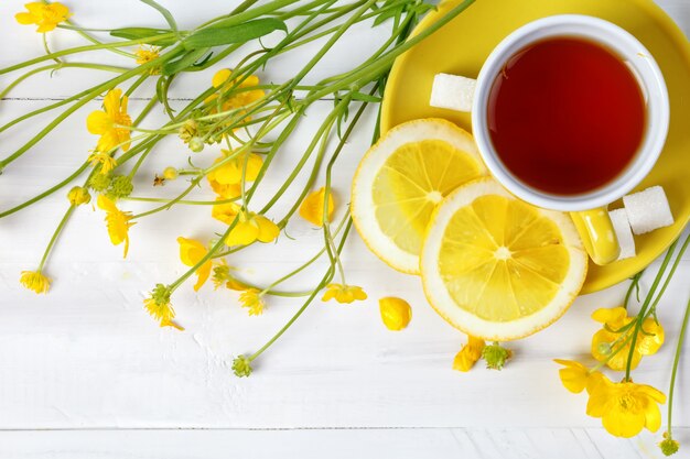
[{"label": "round yellow saucer under the teacup", "polygon": [[[457,6],[446,0],[427,15],[414,33]],[[470,114],[429,107],[433,76],[449,73],[476,78],[492,50],[519,26],[552,14],[590,14],[635,35],[655,56],[671,102],[668,140],[654,171],[638,186],[661,185],[676,223],[636,236],[637,256],[606,266],[590,263],[581,293],[617,284],[645,269],[681,233],[690,219],[690,45],[673,21],[651,0],[477,0],[452,22],[399,57],[390,73],[381,112],[381,131],[417,118],[445,118],[471,129]],[[621,207],[614,203],[611,208]]]}]

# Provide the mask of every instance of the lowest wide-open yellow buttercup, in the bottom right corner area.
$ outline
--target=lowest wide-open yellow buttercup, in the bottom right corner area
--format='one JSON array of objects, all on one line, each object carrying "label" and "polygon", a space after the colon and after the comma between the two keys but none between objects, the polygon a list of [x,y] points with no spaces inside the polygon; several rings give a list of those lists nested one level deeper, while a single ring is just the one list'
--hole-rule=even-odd
[{"label": "lowest wide-open yellow buttercup, in the bottom right corner area", "polygon": [[661,426],[658,404],[666,403],[666,395],[650,385],[613,383],[602,375],[587,392],[587,414],[601,417],[604,428],[616,437],[633,437],[645,427],[657,431]]}]

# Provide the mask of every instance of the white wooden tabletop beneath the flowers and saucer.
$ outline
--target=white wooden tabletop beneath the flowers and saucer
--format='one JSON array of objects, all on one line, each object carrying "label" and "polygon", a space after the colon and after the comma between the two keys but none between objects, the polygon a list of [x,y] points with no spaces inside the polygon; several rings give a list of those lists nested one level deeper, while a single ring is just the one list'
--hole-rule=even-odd
[{"label": "white wooden tabletop beneath the flowers and saucer", "polygon": [[[65,2],[80,24],[161,25],[159,17],[134,0]],[[23,3],[0,2],[0,67],[42,52],[40,36],[13,20]],[[222,0],[163,3],[187,28],[231,7]],[[690,2],[659,3],[690,32]],[[379,34],[363,26],[352,36],[358,46],[374,46]],[[55,47],[75,43],[68,33],[56,33],[52,40]],[[319,72],[332,74],[357,58],[353,46],[342,45]],[[280,80],[292,65],[281,63],[262,77]],[[207,85],[211,75],[187,77],[175,97],[188,98],[195,83]],[[0,121],[46,99],[63,98],[94,78],[76,70],[60,72],[52,79],[36,76],[0,101]],[[0,88],[8,81],[0,77]],[[132,101],[133,107],[141,103]],[[288,150],[299,151],[314,128],[309,120],[319,120],[331,105],[315,105]],[[94,138],[84,120],[96,108],[93,103],[77,112],[58,134],[8,167],[0,177],[0,208],[33,196],[86,157]],[[369,116],[362,127],[373,122]],[[0,154],[34,131],[35,125],[26,125],[3,134]],[[337,174],[341,212],[369,139],[369,130],[360,129],[345,151]],[[185,159],[186,152],[171,142],[144,167],[152,177]],[[280,177],[272,181],[277,185]],[[177,185],[170,184],[164,192],[172,194]],[[148,183],[137,186],[139,195],[162,193]],[[514,343],[515,359],[504,371],[476,368],[463,374],[452,371],[451,363],[465,338],[431,310],[417,278],[392,272],[354,234],[345,250],[346,270],[349,282],[364,286],[370,299],[353,305],[315,303],[257,361],[251,378],[237,379],[230,370],[233,357],[260,347],[297,310],[297,303],[271,299],[263,316],[247,317],[233,293],[207,287],[196,296],[187,284],[174,297],[184,332],[158,328],[141,305],[157,282],[170,282],[183,272],[177,236],[207,239],[219,229],[208,209],[184,208],[140,222],[131,230],[130,255],[123,261],[121,247],[114,248],[107,239],[103,212],[80,208],[50,261],[54,288],[47,296],[36,296],[19,285],[19,274],[35,267],[65,203],[60,193],[30,211],[0,220],[2,459],[661,457],[655,446],[660,431],[629,440],[610,437],[599,419],[584,414],[586,397],[562,387],[552,362],[586,358],[597,329],[591,312],[617,305],[625,285],[579,298],[559,323]],[[288,272],[304,258],[304,247],[313,249],[321,242],[306,223],[295,222],[289,232],[299,245],[283,240],[280,250],[263,247],[234,260],[244,266],[242,275],[266,280],[270,271]],[[314,273],[298,284],[308,286]],[[690,259],[681,264],[659,306],[672,339],[635,371],[636,381],[664,392],[689,295],[688,275]],[[649,282],[645,276],[643,284]],[[396,334],[382,327],[376,299],[384,295],[401,296],[413,305],[407,330]],[[675,433],[682,442],[678,457],[686,458],[690,457],[688,351],[690,343],[675,412]]]}]

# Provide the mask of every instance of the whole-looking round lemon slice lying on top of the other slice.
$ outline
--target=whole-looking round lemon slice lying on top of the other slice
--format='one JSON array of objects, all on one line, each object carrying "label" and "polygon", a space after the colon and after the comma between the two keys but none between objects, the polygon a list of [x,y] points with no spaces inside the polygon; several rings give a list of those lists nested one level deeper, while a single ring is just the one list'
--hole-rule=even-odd
[{"label": "whole-looking round lemon slice lying on top of the other slice", "polygon": [[495,341],[558,319],[586,267],[568,215],[525,204],[492,178],[466,184],[436,208],[421,254],[434,309],[464,332]]}]

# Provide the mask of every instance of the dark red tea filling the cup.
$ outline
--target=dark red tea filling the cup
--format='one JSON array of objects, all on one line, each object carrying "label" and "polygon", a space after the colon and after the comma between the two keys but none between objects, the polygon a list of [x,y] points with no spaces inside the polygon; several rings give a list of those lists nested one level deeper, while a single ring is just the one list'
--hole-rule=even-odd
[{"label": "dark red tea filling the cup", "polygon": [[516,177],[546,193],[578,195],[630,163],[645,131],[645,100],[616,54],[558,37],[506,63],[487,121],[494,149]]}]

